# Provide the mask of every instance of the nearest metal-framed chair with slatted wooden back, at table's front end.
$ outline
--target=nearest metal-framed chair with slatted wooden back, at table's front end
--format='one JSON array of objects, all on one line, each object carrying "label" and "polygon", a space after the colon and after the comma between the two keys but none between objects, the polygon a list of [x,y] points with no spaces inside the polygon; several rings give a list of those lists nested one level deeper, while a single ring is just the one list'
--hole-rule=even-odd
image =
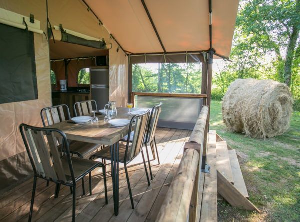
[{"label": "nearest metal-framed chair with slatted wooden back, at table's front end", "polygon": [[[19,128],[34,171],[29,221],[32,219],[37,177],[56,183],[55,195],[58,194],[61,184],[71,188],[73,193],[72,220],[75,221],[76,183],[89,174],[89,194],[91,195],[91,171],[97,167],[102,167],[105,201],[106,204],[108,203],[105,165],[103,163],[71,157],[67,138],[58,129],[39,128],[26,124],[21,124]],[[61,152],[58,151],[58,139],[61,141]]]}]

